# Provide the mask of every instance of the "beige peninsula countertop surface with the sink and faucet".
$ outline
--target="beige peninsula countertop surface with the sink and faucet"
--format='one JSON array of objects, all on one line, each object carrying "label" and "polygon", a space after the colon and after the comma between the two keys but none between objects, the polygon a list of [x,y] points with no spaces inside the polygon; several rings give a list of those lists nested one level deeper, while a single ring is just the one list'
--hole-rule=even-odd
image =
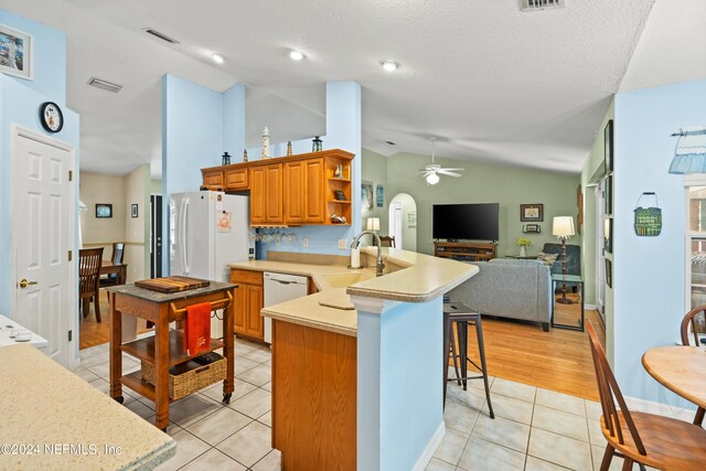
[{"label": "beige peninsula countertop surface with the sink and faucet", "polygon": [[[400,302],[426,302],[437,298],[478,272],[478,267],[447,258],[414,251],[383,248],[386,275],[375,277],[375,247],[364,247],[367,268],[351,269],[341,265],[250,260],[229,264],[232,268],[275,271],[308,276],[319,292],[303,298],[264,308],[263,315],[315,329],[357,335],[357,312],[350,297],[367,297]],[[372,266],[371,266],[372,264]],[[340,275],[361,275],[367,278],[347,286],[336,287]],[[336,279],[336,281],[339,281]]]}]

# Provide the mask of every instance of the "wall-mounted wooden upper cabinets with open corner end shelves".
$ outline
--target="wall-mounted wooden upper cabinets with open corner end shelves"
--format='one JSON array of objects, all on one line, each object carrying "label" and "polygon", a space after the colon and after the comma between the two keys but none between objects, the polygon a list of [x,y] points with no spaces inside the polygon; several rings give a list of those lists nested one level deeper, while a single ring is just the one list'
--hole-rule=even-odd
[{"label": "wall-mounted wooden upper cabinets with open corner end shelves", "polygon": [[353,158],[332,149],[213,167],[202,188],[249,191],[252,226],[350,225]]}]

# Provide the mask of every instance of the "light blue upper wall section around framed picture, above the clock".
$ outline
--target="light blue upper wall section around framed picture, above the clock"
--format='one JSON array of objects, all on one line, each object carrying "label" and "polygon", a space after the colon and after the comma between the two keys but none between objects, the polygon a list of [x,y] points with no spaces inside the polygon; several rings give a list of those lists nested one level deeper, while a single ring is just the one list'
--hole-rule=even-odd
[{"label": "light blue upper wall section around framed picture, above the clock", "polygon": [[7,77],[43,95],[44,101],[57,103],[63,109],[66,104],[66,35],[7,10],[0,10],[0,23],[31,34],[34,41],[33,79]]}]

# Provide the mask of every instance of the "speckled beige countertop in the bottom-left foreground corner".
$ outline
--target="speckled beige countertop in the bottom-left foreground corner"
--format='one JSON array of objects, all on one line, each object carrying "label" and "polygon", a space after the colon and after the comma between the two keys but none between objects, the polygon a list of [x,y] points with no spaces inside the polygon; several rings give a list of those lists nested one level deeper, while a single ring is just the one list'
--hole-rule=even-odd
[{"label": "speckled beige countertop in the bottom-left foreground corner", "polygon": [[152,469],[175,453],[170,436],[31,345],[0,349],[0,469]]}]

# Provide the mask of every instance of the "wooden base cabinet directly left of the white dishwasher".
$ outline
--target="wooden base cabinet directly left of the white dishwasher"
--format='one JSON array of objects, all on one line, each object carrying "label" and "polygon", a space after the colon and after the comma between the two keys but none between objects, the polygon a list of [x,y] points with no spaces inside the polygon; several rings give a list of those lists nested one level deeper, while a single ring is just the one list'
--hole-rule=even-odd
[{"label": "wooden base cabinet directly left of the white dishwasher", "polygon": [[264,306],[263,274],[234,268],[231,282],[238,285],[235,290],[235,333],[264,341],[265,328],[260,315]]}]

